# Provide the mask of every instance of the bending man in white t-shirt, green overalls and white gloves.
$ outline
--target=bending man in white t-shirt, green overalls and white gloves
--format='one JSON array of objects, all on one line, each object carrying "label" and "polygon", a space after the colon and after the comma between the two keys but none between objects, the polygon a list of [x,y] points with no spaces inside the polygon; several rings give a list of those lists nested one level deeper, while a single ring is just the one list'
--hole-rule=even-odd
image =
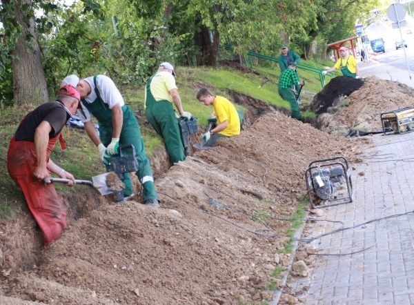
[{"label": "bending man in white t-shirt, green overalls and white gloves", "polygon": [[[68,81],[73,81],[71,79],[73,77],[73,75],[67,77]],[[105,159],[104,156],[117,154],[119,145],[132,144],[139,165],[135,175],[142,184],[144,204],[159,207],[150,161],[146,156],[137,118],[126,106],[115,83],[106,75],[95,75],[80,80],[77,83],[77,90],[81,94],[82,104],[82,110],[78,115],[81,117],[86,133],[97,146],[101,159]],[[98,120],[99,135],[92,124],[91,115]],[[107,170],[109,170],[108,166]],[[128,173],[125,174],[124,184],[126,186],[124,197],[134,195]]]}]

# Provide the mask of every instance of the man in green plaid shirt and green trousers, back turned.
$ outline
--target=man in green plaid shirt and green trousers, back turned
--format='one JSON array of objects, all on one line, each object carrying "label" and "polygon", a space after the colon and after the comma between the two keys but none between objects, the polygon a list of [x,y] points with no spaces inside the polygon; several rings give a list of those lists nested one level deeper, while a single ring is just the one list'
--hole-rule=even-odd
[{"label": "man in green plaid shirt and green trousers, back turned", "polygon": [[297,104],[295,94],[293,93],[293,86],[304,86],[304,81],[299,82],[299,77],[296,74],[296,64],[290,63],[288,68],[282,72],[279,78],[279,95],[282,99],[286,100],[290,104],[292,117],[295,119],[302,119],[300,113],[299,104]]}]

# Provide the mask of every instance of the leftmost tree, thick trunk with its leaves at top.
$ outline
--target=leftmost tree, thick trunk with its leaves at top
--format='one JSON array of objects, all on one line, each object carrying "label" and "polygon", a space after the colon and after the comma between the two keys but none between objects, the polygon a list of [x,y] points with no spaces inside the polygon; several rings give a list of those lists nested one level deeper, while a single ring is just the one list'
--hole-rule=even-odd
[{"label": "leftmost tree, thick trunk with its leaves at top", "polygon": [[[56,16],[65,13],[67,7],[64,4],[58,6],[53,0],[0,1],[0,21],[4,27],[0,60],[5,63],[6,61],[3,59],[4,55],[7,54],[11,61],[14,104],[46,102],[49,100],[48,86],[39,46],[41,37],[38,37],[38,35],[48,35],[53,30],[58,31],[63,19],[56,18]],[[97,1],[82,0],[79,4],[81,9],[79,9],[77,18],[80,19],[85,14],[90,13],[95,17],[95,21],[101,18],[103,16],[102,10]],[[35,18],[34,12],[36,10],[43,12],[43,15]],[[72,21],[75,23],[74,19]],[[48,38],[52,37],[51,35]],[[78,39],[79,37],[76,36],[70,37],[67,48],[64,50],[74,55]]]}]

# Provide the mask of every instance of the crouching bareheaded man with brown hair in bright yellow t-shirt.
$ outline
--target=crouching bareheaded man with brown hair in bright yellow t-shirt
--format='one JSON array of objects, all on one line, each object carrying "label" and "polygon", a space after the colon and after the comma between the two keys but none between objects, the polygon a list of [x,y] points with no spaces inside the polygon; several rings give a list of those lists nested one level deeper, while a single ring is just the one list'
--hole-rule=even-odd
[{"label": "crouching bareheaded man with brown hair in bright yellow t-shirt", "polygon": [[196,97],[203,105],[212,105],[217,118],[217,126],[202,136],[205,143],[201,148],[213,146],[219,137],[233,137],[240,134],[239,112],[228,99],[213,95],[207,88],[201,88]]}]

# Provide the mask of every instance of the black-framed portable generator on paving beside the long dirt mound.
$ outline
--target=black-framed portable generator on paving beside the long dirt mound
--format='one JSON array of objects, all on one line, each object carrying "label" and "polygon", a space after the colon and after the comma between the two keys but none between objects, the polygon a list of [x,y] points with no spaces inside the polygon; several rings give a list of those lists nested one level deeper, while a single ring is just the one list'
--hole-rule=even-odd
[{"label": "black-framed portable generator on paving beside the long dirt mound", "polygon": [[[348,161],[333,157],[311,162],[305,173],[312,208],[352,202],[352,181]],[[319,203],[315,197],[321,199]]]}]

